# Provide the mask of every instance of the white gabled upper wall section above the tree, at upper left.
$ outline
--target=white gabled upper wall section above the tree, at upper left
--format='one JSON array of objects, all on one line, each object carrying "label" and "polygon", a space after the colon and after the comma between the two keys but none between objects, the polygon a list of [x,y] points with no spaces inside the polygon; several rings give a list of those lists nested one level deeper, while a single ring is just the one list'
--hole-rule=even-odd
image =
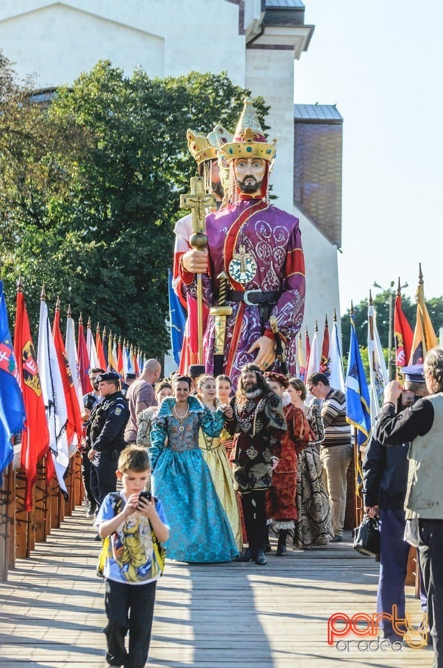
[{"label": "white gabled upper wall section above the tree, at upper left", "polygon": [[100,58],[153,77],[226,70],[244,86],[238,6],[226,0],[2,0],[0,45],[39,88],[70,84]]}]

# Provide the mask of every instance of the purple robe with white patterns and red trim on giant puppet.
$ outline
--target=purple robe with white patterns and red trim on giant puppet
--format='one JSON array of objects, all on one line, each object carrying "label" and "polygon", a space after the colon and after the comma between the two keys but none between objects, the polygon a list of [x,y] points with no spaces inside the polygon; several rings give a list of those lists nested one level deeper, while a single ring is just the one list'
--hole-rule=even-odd
[{"label": "purple robe with white patterns and red trim on giant puppet", "polygon": [[[236,224],[240,214],[244,216],[243,212],[256,204],[257,200],[240,200],[206,218],[210,276],[203,274],[203,299],[208,306],[217,304],[217,276],[221,271],[229,275],[227,268],[233,253],[239,252],[240,245],[244,246],[257,266],[254,278],[243,284],[244,289],[261,289],[263,292],[280,294],[277,303],[272,305],[270,315],[277,317],[279,331],[286,337],[286,364],[290,374],[294,375],[296,335],[302,326],[305,291],[300,228],[295,216],[271,205],[253,213],[242,225]],[[226,237],[233,225],[239,229],[235,239],[228,244]],[[230,287],[238,290],[238,284],[232,283]],[[186,289],[195,295],[195,281],[188,283]],[[263,328],[258,305],[227,303],[232,306],[233,313],[226,319],[224,373],[231,376],[236,387],[242,366],[254,362],[257,351],[248,353],[247,350],[263,335]],[[240,321],[237,316],[242,311]],[[265,323],[265,330],[271,331],[269,321]],[[203,341],[205,367],[209,374],[213,370],[214,341],[214,318],[210,315]],[[278,367],[276,360],[273,369],[277,370]]]}]

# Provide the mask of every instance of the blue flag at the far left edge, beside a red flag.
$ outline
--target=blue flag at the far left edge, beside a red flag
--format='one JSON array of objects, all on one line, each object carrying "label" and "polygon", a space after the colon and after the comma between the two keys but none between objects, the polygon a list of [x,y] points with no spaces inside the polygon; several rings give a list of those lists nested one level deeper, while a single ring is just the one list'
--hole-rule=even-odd
[{"label": "blue flag at the far left edge, beside a red flag", "polygon": [[0,280],[0,472],[13,459],[10,438],[22,431],[26,417],[18,377],[3,281]]}]

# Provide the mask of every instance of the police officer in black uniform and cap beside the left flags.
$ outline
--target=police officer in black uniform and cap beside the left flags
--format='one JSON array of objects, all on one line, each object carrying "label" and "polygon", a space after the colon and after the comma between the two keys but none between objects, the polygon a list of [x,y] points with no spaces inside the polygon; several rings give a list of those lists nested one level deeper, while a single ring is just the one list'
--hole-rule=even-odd
[{"label": "police officer in black uniform and cap beside the left flags", "polygon": [[95,404],[86,429],[91,445],[91,491],[100,507],[104,497],[116,491],[118,455],[125,447],[125,427],[129,418],[127,401],[120,391],[120,376],[114,371],[98,374],[100,404]]}]

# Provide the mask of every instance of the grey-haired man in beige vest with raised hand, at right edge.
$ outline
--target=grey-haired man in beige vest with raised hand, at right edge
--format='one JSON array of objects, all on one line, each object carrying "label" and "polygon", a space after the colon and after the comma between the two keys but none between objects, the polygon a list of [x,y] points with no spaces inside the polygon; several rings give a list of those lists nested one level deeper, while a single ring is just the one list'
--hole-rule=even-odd
[{"label": "grey-haired man in beige vest with raised hand, at right edge", "polygon": [[397,413],[401,385],[392,381],[376,437],[383,445],[410,441],[405,499],[406,518],[417,526],[420,566],[428,596],[428,622],[434,645],[432,668],[443,668],[443,349],[428,351],[423,365],[428,397]]}]

